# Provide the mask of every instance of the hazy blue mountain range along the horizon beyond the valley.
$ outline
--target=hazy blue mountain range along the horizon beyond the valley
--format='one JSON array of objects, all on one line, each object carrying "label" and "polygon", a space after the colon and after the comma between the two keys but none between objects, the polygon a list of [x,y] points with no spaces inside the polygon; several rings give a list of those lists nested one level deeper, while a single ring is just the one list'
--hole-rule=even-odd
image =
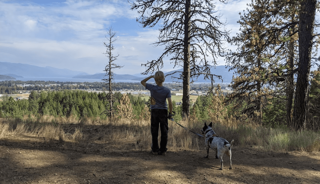
[{"label": "hazy blue mountain range along the horizon beyond the valley", "polygon": [[[176,77],[179,77],[180,72],[183,69],[173,70],[164,73],[164,75],[169,75],[166,77],[165,82],[176,82]],[[178,72],[177,72],[178,71]],[[176,72],[176,73],[175,73]],[[215,75],[222,76],[224,83],[230,83],[233,77],[233,71],[229,71],[226,66],[216,66],[211,68],[211,73]],[[10,78],[12,77],[12,78]],[[94,75],[89,75],[83,71],[73,71],[69,69],[58,69],[53,67],[38,67],[29,64],[21,63],[8,63],[0,62],[0,80],[14,80],[23,77],[69,77],[69,78],[81,78],[81,79],[104,79],[105,73],[97,73]],[[135,74],[115,74],[115,80],[134,80],[141,81],[147,77],[147,75]],[[149,80],[154,82],[154,79]],[[182,82],[182,81],[179,81]],[[199,77],[197,81],[199,83],[207,83],[209,80],[204,80],[203,77]],[[222,82],[221,80],[216,79],[215,82]]]}]

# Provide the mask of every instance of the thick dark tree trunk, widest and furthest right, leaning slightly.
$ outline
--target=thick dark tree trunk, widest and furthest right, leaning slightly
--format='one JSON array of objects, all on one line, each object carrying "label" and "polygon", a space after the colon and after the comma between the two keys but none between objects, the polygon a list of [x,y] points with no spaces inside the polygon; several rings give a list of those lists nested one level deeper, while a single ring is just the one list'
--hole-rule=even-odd
[{"label": "thick dark tree trunk, widest and furthest right, leaning slightly", "polygon": [[311,67],[312,34],[316,14],[316,0],[303,0],[299,12],[299,64],[294,98],[293,122],[296,129],[306,128],[308,85]]}]

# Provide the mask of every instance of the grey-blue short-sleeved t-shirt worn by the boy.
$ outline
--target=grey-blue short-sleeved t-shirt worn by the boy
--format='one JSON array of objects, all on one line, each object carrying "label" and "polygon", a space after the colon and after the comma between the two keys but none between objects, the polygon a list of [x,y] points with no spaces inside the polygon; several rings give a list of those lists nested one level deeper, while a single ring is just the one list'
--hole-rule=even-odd
[{"label": "grey-blue short-sleeved t-shirt worn by the boy", "polygon": [[155,105],[150,106],[151,109],[168,109],[167,98],[171,98],[169,88],[146,83],[146,89],[150,90],[151,96],[156,101]]}]

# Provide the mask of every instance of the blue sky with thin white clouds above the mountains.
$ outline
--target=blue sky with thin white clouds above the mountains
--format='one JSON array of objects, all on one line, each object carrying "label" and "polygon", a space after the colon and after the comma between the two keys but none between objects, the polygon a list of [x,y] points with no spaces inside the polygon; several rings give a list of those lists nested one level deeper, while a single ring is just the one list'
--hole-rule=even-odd
[{"label": "blue sky with thin white clouds above the mountains", "polygon": [[[250,2],[216,4],[231,36],[239,29],[239,12]],[[112,26],[118,38],[115,63],[124,65],[114,72],[141,73],[141,64],[157,59],[163,48],[151,45],[157,40],[157,27],[140,27],[137,11],[130,8],[127,0],[0,0],[0,62],[103,73],[103,42],[106,28]],[[162,71],[177,70],[167,59]],[[221,58],[219,65],[224,64]]]}]

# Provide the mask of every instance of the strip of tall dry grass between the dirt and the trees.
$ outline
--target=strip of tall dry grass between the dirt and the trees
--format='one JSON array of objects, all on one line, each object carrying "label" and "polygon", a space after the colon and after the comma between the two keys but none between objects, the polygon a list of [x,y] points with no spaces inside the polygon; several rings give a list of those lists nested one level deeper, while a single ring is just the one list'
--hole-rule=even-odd
[{"label": "strip of tall dry grass between the dirt and the trees", "polygon": [[[200,133],[204,122],[179,121],[188,130]],[[210,123],[210,122],[208,122]],[[294,131],[286,127],[267,128],[254,122],[245,124],[233,118],[213,121],[216,134],[235,140],[236,147],[257,151],[320,151],[320,132]],[[183,129],[169,121],[168,150],[204,150],[204,137]],[[20,119],[0,118],[0,140],[33,137],[48,144],[57,141],[70,149],[110,151],[150,151],[150,121],[119,119],[115,121],[100,118],[53,117],[28,115]],[[160,136],[159,136],[160,141]]]}]

